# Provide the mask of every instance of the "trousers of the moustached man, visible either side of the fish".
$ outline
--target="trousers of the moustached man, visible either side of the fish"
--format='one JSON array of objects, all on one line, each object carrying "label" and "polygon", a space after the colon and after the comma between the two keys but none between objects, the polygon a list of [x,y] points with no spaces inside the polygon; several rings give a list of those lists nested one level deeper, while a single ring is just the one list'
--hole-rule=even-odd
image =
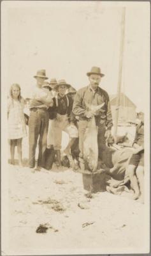
[{"label": "trousers of the moustached man, visible either side of the fish", "polygon": [[[79,149],[80,149],[81,158],[83,158],[83,142],[84,142],[85,131],[88,125],[89,125],[89,121],[87,120],[80,120],[78,122]],[[97,143],[98,143],[99,154],[100,154],[106,149],[106,141],[104,138],[106,127],[105,127],[105,124],[97,124],[97,127],[98,127]]]}]

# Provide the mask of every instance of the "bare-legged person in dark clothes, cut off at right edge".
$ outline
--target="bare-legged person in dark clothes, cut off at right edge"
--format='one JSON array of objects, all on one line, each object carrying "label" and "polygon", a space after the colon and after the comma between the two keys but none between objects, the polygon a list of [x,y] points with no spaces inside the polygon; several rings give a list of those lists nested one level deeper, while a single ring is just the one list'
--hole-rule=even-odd
[{"label": "bare-legged person in dark clothes, cut off at right edge", "polygon": [[127,167],[127,174],[131,181],[131,188],[134,190],[133,199],[139,197],[141,203],[144,202],[143,177],[144,177],[144,113],[137,111],[140,124],[136,127],[136,135],[133,142],[134,153]]}]

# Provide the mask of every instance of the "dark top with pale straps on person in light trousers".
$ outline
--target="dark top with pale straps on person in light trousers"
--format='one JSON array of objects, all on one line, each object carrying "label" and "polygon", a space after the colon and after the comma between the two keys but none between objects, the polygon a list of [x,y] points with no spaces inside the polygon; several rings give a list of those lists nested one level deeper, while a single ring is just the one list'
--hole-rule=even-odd
[{"label": "dark top with pale straps on person in light trousers", "polygon": [[57,114],[59,115],[68,115],[70,120],[70,114],[73,108],[73,99],[64,95],[60,97],[59,94],[53,99],[53,106],[48,108],[50,119],[56,118]]}]

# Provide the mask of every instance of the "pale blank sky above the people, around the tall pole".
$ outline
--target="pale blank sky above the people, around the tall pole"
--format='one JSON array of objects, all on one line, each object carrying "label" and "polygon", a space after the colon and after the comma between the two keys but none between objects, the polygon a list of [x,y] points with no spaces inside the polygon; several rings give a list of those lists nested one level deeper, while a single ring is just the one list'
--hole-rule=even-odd
[{"label": "pale blank sky above the people, around the tall pole", "polygon": [[[7,3],[6,3],[7,2]],[[22,3],[20,3],[22,2]],[[27,97],[33,76],[86,86],[92,66],[105,74],[101,87],[117,92],[122,7],[126,6],[122,92],[140,106],[149,97],[150,3],[91,1],[4,1],[4,86],[19,83]]]}]

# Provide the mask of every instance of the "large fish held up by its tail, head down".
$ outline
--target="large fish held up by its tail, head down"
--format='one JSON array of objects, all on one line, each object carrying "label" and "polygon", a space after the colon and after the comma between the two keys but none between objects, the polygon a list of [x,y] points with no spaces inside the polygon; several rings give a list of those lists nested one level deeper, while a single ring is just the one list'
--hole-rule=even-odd
[{"label": "large fish held up by its tail, head down", "polygon": [[97,132],[95,113],[101,110],[104,103],[99,106],[88,105],[89,111],[93,113],[92,118],[88,122],[87,129],[85,131],[85,138],[83,141],[83,159],[85,161],[85,168],[91,172],[96,172],[98,162],[98,145],[97,145]]}]

